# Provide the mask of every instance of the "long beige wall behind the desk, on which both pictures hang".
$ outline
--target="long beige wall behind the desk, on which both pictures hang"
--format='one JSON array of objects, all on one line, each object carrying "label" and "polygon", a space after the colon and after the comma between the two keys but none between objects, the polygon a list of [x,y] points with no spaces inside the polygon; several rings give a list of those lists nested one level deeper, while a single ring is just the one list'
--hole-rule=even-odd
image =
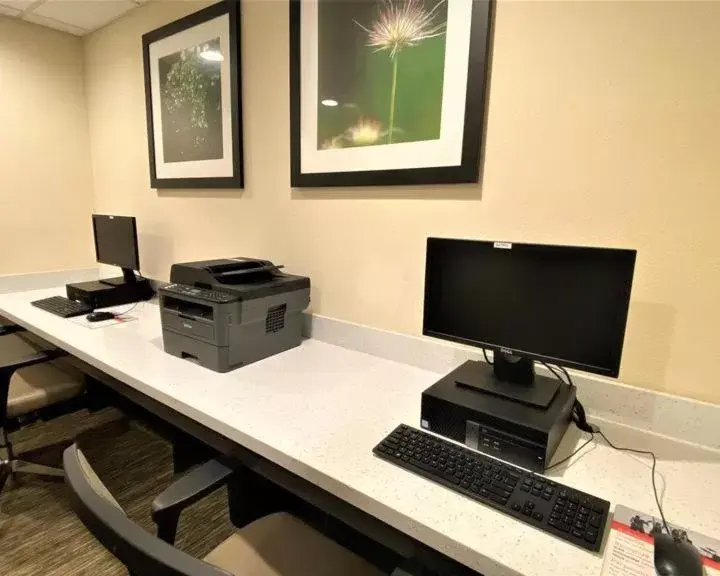
[{"label": "long beige wall behind the desk, on which both pictures hang", "polygon": [[246,189],[158,193],[140,34],[197,7],[85,46],[96,208],[138,216],[145,273],[269,258],[316,312],[417,334],[428,235],[632,247],[623,381],[720,402],[720,3],[500,2],[481,186],[293,191],[287,6],[246,0]]}]

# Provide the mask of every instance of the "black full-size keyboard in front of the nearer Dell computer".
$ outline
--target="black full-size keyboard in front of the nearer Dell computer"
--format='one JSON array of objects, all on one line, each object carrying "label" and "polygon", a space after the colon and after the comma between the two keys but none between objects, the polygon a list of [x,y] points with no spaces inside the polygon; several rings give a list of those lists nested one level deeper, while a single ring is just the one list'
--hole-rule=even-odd
[{"label": "black full-size keyboard in front of the nearer Dell computer", "polygon": [[404,424],[373,453],[576,546],[600,550],[607,500]]}]

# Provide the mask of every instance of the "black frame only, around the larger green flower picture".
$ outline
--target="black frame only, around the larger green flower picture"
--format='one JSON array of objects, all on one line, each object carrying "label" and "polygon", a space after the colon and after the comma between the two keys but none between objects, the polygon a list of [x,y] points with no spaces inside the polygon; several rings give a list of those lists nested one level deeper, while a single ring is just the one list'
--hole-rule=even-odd
[{"label": "black frame only, around the larger green flower picture", "polygon": [[485,128],[493,0],[472,2],[468,83],[460,165],[431,168],[303,173],[301,171],[301,11],[307,1],[290,0],[290,154],[293,188],[404,186],[477,183]]}]

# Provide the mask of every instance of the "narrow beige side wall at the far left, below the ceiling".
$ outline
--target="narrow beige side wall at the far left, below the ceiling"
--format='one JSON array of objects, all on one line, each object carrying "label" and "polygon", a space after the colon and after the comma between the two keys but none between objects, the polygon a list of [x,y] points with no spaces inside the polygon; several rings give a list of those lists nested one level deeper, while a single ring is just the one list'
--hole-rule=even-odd
[{"label": "narrow beige side wall at the far left, below the ceiling", "polygon": [[79,38],[0,16],[0,274],[92,265]]}]

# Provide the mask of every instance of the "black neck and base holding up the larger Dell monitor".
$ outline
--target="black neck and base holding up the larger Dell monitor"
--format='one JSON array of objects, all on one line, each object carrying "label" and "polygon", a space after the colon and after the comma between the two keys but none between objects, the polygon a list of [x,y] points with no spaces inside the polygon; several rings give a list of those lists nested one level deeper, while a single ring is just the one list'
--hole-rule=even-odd
[{"label": "black neck and base holding up the larger Dell monitor", "polygon": [[535,374],[532,360],[499,352],[493,366],[465,362],[455,374],[455,384],[542,409],[550,406],[560,389],[557,378]]}]

